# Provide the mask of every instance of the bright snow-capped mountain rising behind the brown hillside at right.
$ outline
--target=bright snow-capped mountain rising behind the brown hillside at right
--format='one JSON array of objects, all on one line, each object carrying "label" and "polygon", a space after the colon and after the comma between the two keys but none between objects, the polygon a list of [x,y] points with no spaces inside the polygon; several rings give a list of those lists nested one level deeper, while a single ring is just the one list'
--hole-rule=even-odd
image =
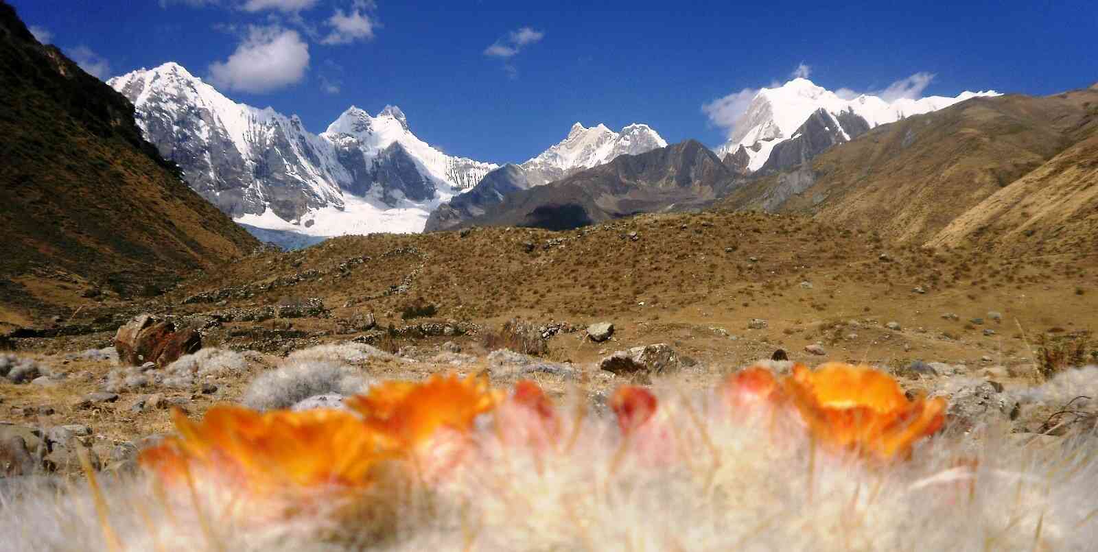
[{"label": "bright snow-capped mountain rising behind the brown hillside at right", "polygon": [[757,171],[771,158],[774,147],[797,137],[802,125],[814,114],[824,117],[816,126],[834,133],[831,139],[847,142],[861,134],[860,128],[894,123],[979,95],[998,95],[998,92],[965,91],[954,98],[931,95],[892,101],[869,94],[843,99],[808,79],[796,78],[777,88],[759,90],[736,122],[728,142],[716,148],[716,153],[721,158],[728,154],[746,154],[748,170]]}]

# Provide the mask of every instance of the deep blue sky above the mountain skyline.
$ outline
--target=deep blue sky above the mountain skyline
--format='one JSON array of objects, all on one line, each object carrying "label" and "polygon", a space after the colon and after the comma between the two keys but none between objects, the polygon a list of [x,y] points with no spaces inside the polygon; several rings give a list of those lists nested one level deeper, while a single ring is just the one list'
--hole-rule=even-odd
[{"label": "deep blue sky above the mountain skyline", "polygon": [[669,142],[717,145],[727,128],[703,105],[799,66],[832,90],[922,74],[909,81],[922,94],[1047,94],[1098,80],[1093,0],[9,1],[101,76],[178,61],[317,133],[351,104],[392,103],[421,138],[491,161],[525,160],[576,121],[643,122]]}]

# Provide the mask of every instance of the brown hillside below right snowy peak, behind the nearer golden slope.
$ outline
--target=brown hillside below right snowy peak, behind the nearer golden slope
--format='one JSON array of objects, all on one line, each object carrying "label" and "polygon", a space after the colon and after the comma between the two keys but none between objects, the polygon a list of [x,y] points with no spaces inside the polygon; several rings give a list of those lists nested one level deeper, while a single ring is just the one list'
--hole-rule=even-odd
[{"label": "brown hillside below right snowy peak, behind the nearer golden slope", "polygon": [[922,244],[1086,137],[1094,105],[1094,90],[968,100],[877,127],[810,168],[741,188],[725,205],[811,213]]}]

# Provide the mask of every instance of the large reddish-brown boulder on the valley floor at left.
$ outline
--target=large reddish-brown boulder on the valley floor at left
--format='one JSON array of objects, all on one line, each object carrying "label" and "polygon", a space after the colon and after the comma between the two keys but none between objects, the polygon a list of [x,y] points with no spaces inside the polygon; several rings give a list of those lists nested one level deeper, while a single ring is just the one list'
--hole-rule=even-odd
[{"label": "large reddish-brown boulder on the valley floor at left", "polygon": [[197,330],[177,330],[175,324],[148,314],[130,320],[114,335],[119,361],[135,367],[155,362],[164,368],[201,348],[202,336]]}]

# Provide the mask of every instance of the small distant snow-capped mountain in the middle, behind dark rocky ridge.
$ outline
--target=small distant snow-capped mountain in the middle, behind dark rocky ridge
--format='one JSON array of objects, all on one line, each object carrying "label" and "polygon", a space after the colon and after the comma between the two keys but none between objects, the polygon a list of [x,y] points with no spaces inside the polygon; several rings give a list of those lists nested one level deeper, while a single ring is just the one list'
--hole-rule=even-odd
[{"label": "small distant snow-capped mountain in the middle, behind dark rocky ridge", "polygon": [[586,128],[575,123],[567,138],[519,167],[530,185],[541,185],[613,161],[619,155],[643,154],[666,145],[666,140],[646,124],[635,123],[616,133],[604,124]]}]

